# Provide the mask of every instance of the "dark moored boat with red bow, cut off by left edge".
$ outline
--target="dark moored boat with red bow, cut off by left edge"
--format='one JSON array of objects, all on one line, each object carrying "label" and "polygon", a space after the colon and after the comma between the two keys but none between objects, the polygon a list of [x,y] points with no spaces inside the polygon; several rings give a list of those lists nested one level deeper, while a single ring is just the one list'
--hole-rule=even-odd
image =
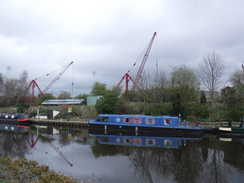
[{"label": "dark moored boat with red bow, cut off by left edge", "polygon": [[30,118],[25,113],[0,113],[0,122],[25,124]]}]

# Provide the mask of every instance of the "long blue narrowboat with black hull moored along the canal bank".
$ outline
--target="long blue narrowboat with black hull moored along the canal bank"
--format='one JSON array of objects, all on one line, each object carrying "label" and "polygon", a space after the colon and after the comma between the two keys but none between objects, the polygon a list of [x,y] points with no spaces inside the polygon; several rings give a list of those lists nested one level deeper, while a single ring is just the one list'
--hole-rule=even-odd
[{"label": "long blue narrowboat with black hull moored along the canal bank", "polygon": [[100,114],[89,120],[89,129],[159,132],[159,133],[204,133],[201,126],[186,126],[181,117]]}]

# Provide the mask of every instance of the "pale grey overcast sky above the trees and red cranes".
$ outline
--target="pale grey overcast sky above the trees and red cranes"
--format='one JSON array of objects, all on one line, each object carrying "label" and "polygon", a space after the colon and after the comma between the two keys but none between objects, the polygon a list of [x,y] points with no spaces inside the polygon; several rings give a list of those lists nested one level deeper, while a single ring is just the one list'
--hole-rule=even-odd
[{"label": "pale grey overcast sky above the trees and red cranes", "polygon": [[72,80],[74,96],[95,81],[110,89],[136,74],[156,31],[144,71],[196,68],[214,51],[230,74],[244,63],[243,9],[243,0],[0,0],[0,73],[26,70],[44,90],[61,70],[40,76],[74,61],[48,92],[72,92]]}]

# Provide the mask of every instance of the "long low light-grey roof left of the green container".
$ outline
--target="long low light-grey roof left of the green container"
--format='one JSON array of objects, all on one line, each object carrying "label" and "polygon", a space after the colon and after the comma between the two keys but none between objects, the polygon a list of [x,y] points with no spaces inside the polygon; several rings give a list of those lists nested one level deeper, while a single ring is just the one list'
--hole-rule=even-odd
[{"label": "long low light-grey roof left of the green container", "polygon": [[48,99],[42,102],[42,105],[82,105],[84,99]]}]

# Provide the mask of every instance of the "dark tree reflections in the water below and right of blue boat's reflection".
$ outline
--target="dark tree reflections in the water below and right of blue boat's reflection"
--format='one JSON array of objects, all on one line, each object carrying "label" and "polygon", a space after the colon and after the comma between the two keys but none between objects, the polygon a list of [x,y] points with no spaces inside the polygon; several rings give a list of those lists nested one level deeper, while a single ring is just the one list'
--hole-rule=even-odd
[{"label": "dark tree reflections in the water below and right of blue boat's reflection", "polygon": [[179,183],[224,183],[232,173],[228,164],[244,168],[244,148],[240,143],[223,143],[212,136],[191,146],[187,144],[170,149],[96,143],[92,150],[95,157],[128,156],[139,182],[169,179]]}]

